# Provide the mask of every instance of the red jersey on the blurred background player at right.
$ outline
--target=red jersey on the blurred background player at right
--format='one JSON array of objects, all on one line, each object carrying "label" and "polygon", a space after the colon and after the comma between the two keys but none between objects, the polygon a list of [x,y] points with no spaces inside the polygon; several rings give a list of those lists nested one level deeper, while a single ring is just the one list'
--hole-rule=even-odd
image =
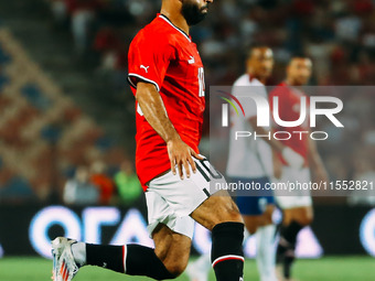
[{"label": "red jersey on the blurred background player at right", "polygon": [[[307,118],[304,122],[297,127],[280,127],[275,125],[275,132],[287,131],[291,134],[289,140],[281,140],[281,142],[298,152],[304,159],[304,166],[308,166],[309,153],[309,97],[297,88],[288,86],[285,82],[280,83],[269,95],[269,105],[271,112],[274,112],[274,97],[279,98],[279,117],[283,121],[296,121],[300,117],[301,97],[307,98]],[[293,133],[293,131],[304,131],[304,133]],[[308,131],[309,133],[306,133]],[[280,136],[285,138],[285,136]],[[288,163],[279,155],[283,165]]]}]

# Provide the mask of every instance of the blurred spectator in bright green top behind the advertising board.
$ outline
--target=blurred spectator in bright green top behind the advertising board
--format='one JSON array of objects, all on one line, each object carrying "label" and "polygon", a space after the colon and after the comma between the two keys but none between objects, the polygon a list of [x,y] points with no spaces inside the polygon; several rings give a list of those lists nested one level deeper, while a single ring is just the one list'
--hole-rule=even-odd
[{"label": "blurred spectator in bright green top behind the advertising board", "polygon": [[121,203],[125,205],[132,204],[142,194],[142,187],[129,160],[121,163],[120,171],[115,174],[114,179]]}]

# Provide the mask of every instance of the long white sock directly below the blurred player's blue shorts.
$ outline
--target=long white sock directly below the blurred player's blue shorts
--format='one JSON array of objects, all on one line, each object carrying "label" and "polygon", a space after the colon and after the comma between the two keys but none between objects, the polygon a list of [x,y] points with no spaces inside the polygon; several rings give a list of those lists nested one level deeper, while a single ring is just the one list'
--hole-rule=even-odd
[{"label": "long white sock directly below the blurred player's blue shorts", "polygon": [[276,281],[275,225],[259,227],[256,233],[257,266],[261,281]]}]

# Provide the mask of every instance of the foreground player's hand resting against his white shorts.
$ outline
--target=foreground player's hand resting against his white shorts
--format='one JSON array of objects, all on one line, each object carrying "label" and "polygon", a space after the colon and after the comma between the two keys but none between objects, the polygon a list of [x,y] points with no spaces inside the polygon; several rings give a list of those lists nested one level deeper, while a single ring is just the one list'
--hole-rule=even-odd
[{"label": "foreground player's hand resting against his white shorts", "polygon": [[[167,142],[168,155],[171,161],[171,170],[173,174],[179,172],[181,180],[183,180],[183,169],[186,171],[186,177],[191,175],[190,166],[193,173],[196,172],[195,162],[192,156],[203,160],[204,158],[196,154],[195,151],[184,143],[180,138]],[[189,166],[190,165],[190,166]],[[179,171],[176,171],[176,167]]]}]

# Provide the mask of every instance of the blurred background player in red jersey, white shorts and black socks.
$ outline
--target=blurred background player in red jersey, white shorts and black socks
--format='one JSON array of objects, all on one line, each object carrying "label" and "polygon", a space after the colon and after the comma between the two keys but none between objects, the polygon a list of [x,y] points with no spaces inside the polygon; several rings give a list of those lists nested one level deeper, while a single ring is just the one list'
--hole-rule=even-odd
[{"label": "blurred background player in red jersey, white shorts and black socks", "polygon": [[[287,78],[269,95],[270,106],[274,109],[274,97],[278,97],[279,117],[283,121],[294,121],[300,117],[301,98],[309,105],[309,97],[302,91],[312,72],[312,62],[308,57],[293,57],[287,66]],[[291,138],[282,143],[298,152],[304,159],[302,169],[293,169],[279,155],[281,164],[280,182],[309,183],[310,170],[317,181],[326,181],[323,162],[318,153],[315,142],[309,137],[308,118],[298,127],[277,127],[275,131],[289,132]],[[304,133],[293,133],[302,131]],[[278,161],[276,161],[278,162]],[[280,240],[277,248],[277,268],[281,280],[291,279],[291,266],[294,260],[294,248],[298,233],[312,223],[312,199],[309,191],[294,191],[292,194],[278,194],[276,199],[282,208],[283,219],[280,227]]]}]

